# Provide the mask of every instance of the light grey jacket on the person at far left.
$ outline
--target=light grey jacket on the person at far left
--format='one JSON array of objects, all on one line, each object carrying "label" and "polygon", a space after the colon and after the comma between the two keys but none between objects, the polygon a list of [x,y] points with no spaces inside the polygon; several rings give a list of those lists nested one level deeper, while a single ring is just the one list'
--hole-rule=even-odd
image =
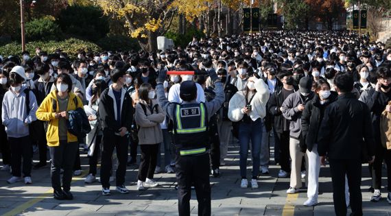
[{"label": "light grey jacket on the person at far left", "polygon": [[25,86],[22,86],[19,95],[13,91],[7,91],[1,106],[1,120],[5,126],[5,132],[9,137],[19,138],[29,135],[29,123],[36,121],[36,98],[29,91],[29,112],[27,113]]}]

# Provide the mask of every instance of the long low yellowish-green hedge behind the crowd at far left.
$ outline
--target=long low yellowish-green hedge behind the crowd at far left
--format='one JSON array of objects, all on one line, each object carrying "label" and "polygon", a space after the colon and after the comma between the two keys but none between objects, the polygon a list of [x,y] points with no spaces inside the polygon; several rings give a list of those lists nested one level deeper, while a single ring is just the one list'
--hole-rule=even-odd
[{"label": "long low yellowish-green hedge behind the crowd at far left", "polygon": [[[47,51],[48,53],[54,53],[56,49],[61,49],[69,55],[75,55],[78,53],[78,50],[83,49],[85,51],[102,51],[102,48],[84,40],[79,40],[76,38],[69,38],[62,41],[33,41],[26,44],[26,49],[29,53],[35,53],[36,47],[40,47],[41,50]],[[10,56],[10,55],[21,55],[22,46],[20,43],[8,43],[0,47],[1,56]]]}]

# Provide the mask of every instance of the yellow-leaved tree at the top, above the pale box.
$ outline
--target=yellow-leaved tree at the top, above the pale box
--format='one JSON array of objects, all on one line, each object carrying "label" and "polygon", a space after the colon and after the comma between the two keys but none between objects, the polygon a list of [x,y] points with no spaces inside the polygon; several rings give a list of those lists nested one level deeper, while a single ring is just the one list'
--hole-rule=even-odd
[{"label": "yellow-leaved tree at the top, above the pale box", "polygon": [[175,0],[97,0],[104,14],[125,21],[129,36],[146,51],[157,49],[156,38],[164,35],[178,8]]}]

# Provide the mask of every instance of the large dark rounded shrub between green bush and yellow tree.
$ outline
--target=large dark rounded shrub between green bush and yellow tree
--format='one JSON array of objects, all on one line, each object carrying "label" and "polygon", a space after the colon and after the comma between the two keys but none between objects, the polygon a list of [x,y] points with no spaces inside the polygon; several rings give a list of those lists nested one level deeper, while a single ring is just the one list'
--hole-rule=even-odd
[{"label": "large dark rounded shrub between green bush and yellow tree", "polygon": [[108,17],[93,5],[72,5],[62,10],[56,23],[62,32],[75,38],[97,41],[109,32]]}]

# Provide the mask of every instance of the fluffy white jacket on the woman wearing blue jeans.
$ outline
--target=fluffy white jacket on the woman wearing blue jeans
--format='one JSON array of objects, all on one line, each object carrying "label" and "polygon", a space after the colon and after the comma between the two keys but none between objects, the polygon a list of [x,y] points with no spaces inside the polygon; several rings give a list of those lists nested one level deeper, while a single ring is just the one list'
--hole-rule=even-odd
[{"label": "fluffy white jacket on the woman wearing blue jeans", "polygon": [[[259,118],[263,119],[266,116],[266,104],[269,100],[269,88],[262,79],[254,80],[255,96],[252,98],[250,105],[252,110],[250,118],[255,121]],[[241,109],[246,106],[246,98],[243,91],[238,91],[229,101],[228,118],[230,121],[240,121],[244,117]]]}]

